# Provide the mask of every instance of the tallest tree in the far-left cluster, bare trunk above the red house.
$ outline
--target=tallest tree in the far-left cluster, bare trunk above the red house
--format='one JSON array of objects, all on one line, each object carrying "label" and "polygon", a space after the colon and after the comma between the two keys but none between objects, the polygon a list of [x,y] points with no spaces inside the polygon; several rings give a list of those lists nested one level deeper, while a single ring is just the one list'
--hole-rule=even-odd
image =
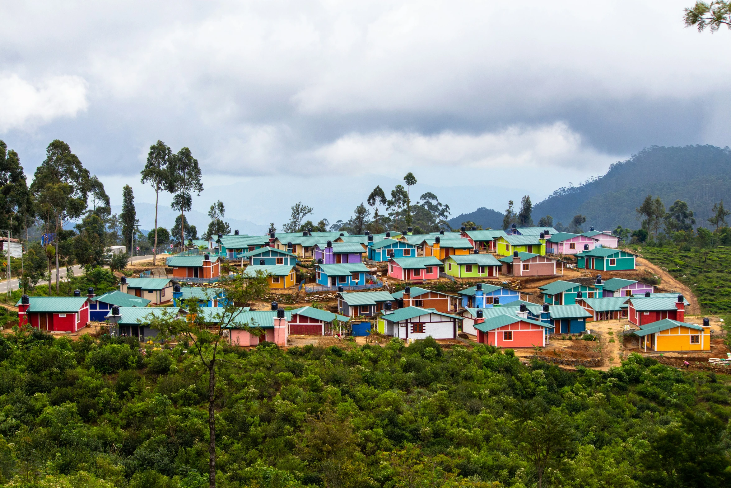
[{"label": "tallest tree in the far-left cluster, bare trunk above the red house", "polygon": [[62,140],[53,140],[46,148],[46,159],[36,168],[31,192],[39,203],[39,216],[46,232],[56,234],[56,293],[58,293],[58,233],[64,222],[86,210],[91,176],[81,161]]}]

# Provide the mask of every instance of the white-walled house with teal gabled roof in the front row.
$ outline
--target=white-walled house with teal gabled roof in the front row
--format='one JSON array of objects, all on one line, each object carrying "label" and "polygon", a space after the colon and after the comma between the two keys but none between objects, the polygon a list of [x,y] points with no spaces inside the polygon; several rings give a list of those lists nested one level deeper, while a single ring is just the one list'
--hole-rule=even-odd
[{"label": "white-walled house with teal gabled roof in the front row", "polygon": [[437,312],[435,309],[406,307],[385,310],[377,320],[381,334],[399,339],[454,339],[457,337],[457,315]]}]

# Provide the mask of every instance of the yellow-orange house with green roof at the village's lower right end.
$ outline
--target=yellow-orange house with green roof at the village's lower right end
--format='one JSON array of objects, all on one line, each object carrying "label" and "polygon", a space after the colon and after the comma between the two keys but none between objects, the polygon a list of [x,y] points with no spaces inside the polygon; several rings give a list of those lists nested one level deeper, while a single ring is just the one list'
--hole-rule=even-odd
[{"label": "yellow-orange house with green roof at the village's lower right end", "polygon": [[640,326],[640,348],[658,352],[678,350],[711,350],[711,327],[664,318]]}]

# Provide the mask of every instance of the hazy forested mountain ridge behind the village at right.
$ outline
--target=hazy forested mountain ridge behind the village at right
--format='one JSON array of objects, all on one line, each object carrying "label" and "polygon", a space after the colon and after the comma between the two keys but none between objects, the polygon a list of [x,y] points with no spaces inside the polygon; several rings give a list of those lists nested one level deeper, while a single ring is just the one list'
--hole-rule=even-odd
[{"label": "hazy forested mountain ridge behind the village at right", "polygon": [[[574,215],[582,214],[586,230],[590,226],[598,230],[614,230],[617,225],[638,228],[640,220],[635,209],[647,195],[659,196],[666,209],[675,200],[685,201],[695,214],[696,226],[708,227],[714,203],[726,198],[727,206],[731,206],[731,150],[710,145],[643,149],[613,164],[599,179],[556,190],[534,205],[532,217],[538,222],[550,215],[554,224],[569,225]],[[513,200],[519,201],[520,196]],[[450,225],[472,220],[477,225],[499,228],[503,214],[487,210],[459,215],[450,220]],[[499,214],[497,224],[495,214]]]}]

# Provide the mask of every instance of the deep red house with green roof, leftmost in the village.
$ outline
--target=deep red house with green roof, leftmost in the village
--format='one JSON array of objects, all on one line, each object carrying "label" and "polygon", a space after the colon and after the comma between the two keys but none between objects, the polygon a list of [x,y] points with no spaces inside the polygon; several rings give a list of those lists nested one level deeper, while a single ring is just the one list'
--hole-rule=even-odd
[{"label": "deep red house with green roof, leftmost in the village", "polygon": [[18,301],[18,323],[42,331],[75,332],[89,321],[86,296],[28,296]]}]

